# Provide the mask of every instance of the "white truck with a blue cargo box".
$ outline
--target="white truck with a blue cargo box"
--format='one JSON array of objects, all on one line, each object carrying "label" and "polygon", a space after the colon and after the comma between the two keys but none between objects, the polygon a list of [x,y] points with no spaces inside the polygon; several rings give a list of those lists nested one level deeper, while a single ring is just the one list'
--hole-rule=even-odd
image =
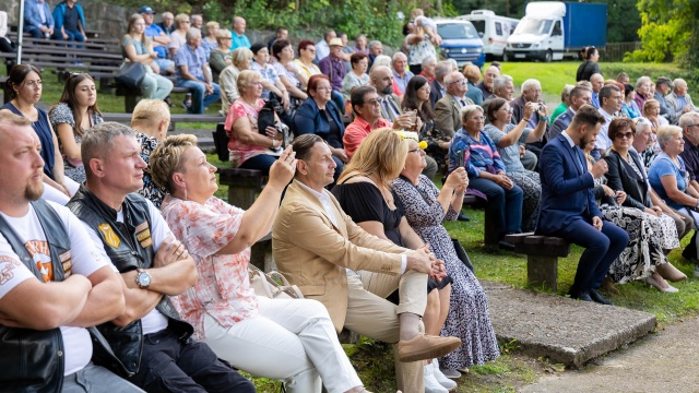
[{"label": "white truck with a blue cargo box", "polygon": [[507,39],[505,59],[543,61],[579,57],[587,46],[607,43],[607,4],[533,1]]}]

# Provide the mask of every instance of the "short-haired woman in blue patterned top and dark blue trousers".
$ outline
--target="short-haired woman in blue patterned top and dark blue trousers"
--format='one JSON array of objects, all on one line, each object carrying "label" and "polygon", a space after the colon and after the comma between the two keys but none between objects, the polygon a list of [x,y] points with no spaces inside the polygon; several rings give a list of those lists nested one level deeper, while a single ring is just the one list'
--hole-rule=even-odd
[{"label": "short-haired woman in blue patterned top and dark blue trousers", "polygon": [[466,168],[471,187],[488,198],[488,209],[495,218],[495,227],[501,239],[500,247],[513,245],[502,240],[508,234],[522,231],[523,191],[507,177],[507,168],[497,146],[483,132],[483,108],[466,105],[461,108],[461,128],[449,147],[449,171]]}]

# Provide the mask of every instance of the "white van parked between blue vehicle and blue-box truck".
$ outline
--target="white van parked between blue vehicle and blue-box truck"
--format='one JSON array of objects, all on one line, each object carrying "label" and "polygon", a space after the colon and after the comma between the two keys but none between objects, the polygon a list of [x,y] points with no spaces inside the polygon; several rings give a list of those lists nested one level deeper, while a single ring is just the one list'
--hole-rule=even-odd
[{"label": "white van parked between blue vehicle and blue-box truck", "polygon": [[473,23],[483,40],[483,50],[488,60],[502,59],[507,38],[520,22],[517,19],[498,16],[490,10],[474,10],[471,14],[461,15],[458,19]]}]

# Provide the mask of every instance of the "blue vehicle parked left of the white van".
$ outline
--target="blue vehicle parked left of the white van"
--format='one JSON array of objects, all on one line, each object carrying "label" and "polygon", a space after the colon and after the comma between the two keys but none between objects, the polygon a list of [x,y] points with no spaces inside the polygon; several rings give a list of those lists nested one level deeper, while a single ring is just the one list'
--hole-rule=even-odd
[{"label": "blue vehicle parked left of the white van", "polygon": [[478,32],[469,21],[458,19],[436,19],[437,33],[441,36],[439,51],[447,59],[454,59],[459,67],[472,62],[478,67],[485,63],[483,41]]}]

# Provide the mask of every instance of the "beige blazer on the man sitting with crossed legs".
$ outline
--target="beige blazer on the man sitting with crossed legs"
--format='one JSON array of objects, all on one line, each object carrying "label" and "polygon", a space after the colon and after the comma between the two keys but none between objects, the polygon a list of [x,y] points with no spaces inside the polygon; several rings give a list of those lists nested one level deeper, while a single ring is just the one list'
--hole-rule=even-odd
[{"label": "beige blazer on the man sitting with crossed legs", "polygon": [[304,296],[328,308],[340,332],[347,311],[345,267],[400,274],[404,248],[366,233],[347,216],[328,191],[337,226],[320,201],[297,181],[286,189],[272,227],[272,252],[276,267]]}]

